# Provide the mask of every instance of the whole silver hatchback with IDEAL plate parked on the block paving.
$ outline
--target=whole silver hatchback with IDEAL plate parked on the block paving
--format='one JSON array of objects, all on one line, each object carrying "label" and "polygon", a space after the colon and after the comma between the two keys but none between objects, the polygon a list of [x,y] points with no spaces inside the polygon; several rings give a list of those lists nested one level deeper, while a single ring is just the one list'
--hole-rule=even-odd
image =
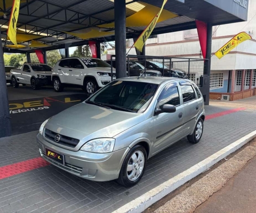
[{"label": "whole silver hatchback with IDEAL plate parked on the block paving", "polygon": [[132,186],[153,155],[186,136],[198,143],[204,118],[193,81],[122,78],[44,121],[37,145],[46,161],[71,174]]}]

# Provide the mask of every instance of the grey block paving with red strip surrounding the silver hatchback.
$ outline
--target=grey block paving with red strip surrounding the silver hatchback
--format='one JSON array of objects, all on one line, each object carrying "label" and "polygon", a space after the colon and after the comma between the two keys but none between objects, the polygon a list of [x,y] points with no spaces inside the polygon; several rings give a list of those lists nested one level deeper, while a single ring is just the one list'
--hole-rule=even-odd
[{"label": "grey block paving with red strip surrounding the silver hatchback", "polygon": [[255,97],[211,102],[201,142],[185,138],[149,159],[140,183],[130,188],[86,181],[47,165],[38,158],[36,132],[0,138],[0,213],[112,212],[255,130],[255,103]]}]

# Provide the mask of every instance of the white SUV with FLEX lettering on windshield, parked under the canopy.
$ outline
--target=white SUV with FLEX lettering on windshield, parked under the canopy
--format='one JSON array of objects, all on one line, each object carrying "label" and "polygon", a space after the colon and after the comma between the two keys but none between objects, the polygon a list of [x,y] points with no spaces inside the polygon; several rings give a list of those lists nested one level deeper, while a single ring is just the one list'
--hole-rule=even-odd
[{"label": "white SUV with FLEX lettering on windshield, parked under the canopy", "polygon": [[[113,69],[113,80],[115,79],[116,71]],[[100,59],[65,58],[55,64],[52,81],[56,92],[61,92],[63,87],[71,84],[82,87],[87,94],[92,94],[111,81],[111,67]]]}]

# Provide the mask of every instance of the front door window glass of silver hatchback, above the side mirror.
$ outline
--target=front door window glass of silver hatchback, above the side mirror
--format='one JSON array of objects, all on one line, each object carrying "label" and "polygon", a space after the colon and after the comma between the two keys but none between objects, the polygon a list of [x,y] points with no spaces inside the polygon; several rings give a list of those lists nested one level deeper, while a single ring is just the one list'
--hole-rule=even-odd
[{"label": "front door window glass of silver hatchback, above the side mirror", "polygon": [[171,104],[174,106],[180,105],[178,87],[173,87],[173,84],[166,85],[158,97],[158,104],[159,107],[163,106],[164,104]]}]

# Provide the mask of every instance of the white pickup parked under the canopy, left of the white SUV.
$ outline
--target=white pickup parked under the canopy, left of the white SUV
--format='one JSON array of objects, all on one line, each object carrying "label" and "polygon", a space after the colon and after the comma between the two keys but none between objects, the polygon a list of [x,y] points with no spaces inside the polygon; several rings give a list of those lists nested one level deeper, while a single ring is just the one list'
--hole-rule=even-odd
[{"label": "white pickup parked under the canopy, left of the white SUV", "polygon": [[11,70],[12,85],[18,88],[19,84],[31,85],[33,89],[51,85],[52,68],[43,63],[24,63],[21,69]]}]

